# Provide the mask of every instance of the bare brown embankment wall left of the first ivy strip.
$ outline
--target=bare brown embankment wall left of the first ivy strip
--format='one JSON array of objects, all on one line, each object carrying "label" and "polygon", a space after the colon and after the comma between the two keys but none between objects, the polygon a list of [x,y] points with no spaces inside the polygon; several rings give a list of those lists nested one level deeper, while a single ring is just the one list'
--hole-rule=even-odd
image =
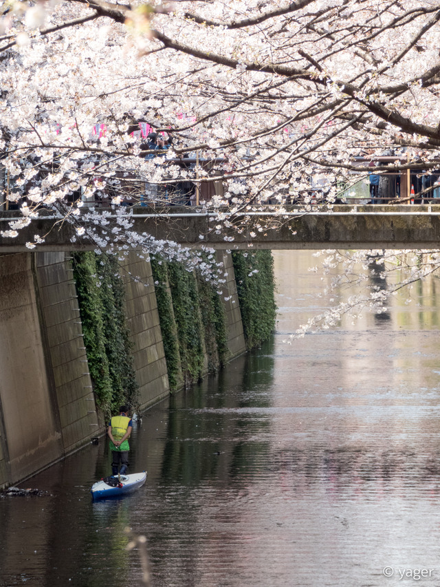
[{"label": "bare brown embankment wall left of the first ivy strip", "polygon": [[0,257],[0,487],[98,432],[65,253]]}]

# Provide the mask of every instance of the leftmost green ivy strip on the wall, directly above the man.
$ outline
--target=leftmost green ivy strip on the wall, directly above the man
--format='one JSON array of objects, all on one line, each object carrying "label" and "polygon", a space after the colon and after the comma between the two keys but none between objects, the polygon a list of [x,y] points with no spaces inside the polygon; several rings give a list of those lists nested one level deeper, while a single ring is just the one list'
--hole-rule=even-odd
[{"label": "leftmost green ivy strip on the wall, directly above the man", "polygon": [[73,258],[89,372],[96,403],[107,417],[122,403],[137,402],[124,286],[114,257],[86,252]]}]

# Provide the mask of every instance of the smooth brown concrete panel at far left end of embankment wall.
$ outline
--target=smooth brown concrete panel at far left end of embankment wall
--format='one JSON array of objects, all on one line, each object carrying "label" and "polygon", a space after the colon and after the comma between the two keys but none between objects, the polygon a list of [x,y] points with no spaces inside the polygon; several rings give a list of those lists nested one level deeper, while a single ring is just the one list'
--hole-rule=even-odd
[{"label": "smooth brown concrete panel at far left end of embankment wall", "polygon": [[63,455],[32,260],[32,253],[0,257],[0,484],[5,477],[17,482]]}]

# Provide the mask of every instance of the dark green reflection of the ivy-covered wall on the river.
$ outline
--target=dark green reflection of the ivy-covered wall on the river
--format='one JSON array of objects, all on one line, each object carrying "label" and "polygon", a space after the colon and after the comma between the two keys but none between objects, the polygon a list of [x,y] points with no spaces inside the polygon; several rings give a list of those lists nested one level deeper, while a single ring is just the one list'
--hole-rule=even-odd
[{"label": "dark green reflection of the ivy-covered wall on the river", "polygon": [[[253,470],[262,450],[259,444],[265,446],[261,433],[270,428],[270,416],[261,408],[271,405],[273,347],[274,342],[269,341],[258,354],[243,355],[192,392],[170,398],[162,467],[166,484],[173,480],[197,485],[216,478],[225,460],[230,469],[226,478],[221,475],[225,484],[230,476]],[[255,434],[259,442],[248,450]],[[222,458],[216,458],[219,456]]]}]

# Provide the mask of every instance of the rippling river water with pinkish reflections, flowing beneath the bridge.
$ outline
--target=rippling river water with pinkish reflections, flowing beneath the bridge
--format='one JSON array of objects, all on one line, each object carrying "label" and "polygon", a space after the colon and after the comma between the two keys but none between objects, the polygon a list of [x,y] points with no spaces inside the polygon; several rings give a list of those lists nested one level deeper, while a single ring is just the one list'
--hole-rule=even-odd
[{"label": "rippling river water with pinkish reflections, flowing beneath the bridge", "polygon": [[287,344],[329,301],[310,253],[274,257],[274,339],[144,414],[142,489],[91,501],[101,439],[0,499],[1,586],[139,585],[126,528],[152,587],[440,585],[437,281]]}]

